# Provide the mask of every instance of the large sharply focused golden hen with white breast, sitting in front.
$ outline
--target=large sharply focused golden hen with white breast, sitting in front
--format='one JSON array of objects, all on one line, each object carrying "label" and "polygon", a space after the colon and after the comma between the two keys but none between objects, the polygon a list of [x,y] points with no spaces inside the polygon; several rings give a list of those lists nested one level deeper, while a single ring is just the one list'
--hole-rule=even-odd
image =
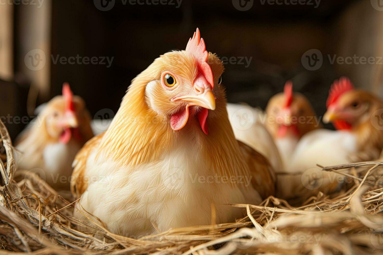
[{"label": "large sharply focused golden hen with white breast, sitting in front", "polygon": [[139,236],[211,224],[212,204],[217,223],[231,221],[242,210],[224,204],[272,195],[269,163],[234,138],[218,84],[223,71],[197,29],[186,50],[161,55],[136,76],[108,130],[75,158],[74,215],[86,210],[112,232]]}]

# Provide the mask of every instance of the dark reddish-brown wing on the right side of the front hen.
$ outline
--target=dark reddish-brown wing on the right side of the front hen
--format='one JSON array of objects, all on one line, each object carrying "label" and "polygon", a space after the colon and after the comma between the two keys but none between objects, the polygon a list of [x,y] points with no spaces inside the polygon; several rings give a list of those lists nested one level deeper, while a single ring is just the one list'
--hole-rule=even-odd
[{"label": "dark reddish-brown wing on the right side of the front hen", "polygon": [[251,181],[255,190],[264,199],[275,195],[275,172],[268,160],[241,141],[238,144],[253,175]]}]

